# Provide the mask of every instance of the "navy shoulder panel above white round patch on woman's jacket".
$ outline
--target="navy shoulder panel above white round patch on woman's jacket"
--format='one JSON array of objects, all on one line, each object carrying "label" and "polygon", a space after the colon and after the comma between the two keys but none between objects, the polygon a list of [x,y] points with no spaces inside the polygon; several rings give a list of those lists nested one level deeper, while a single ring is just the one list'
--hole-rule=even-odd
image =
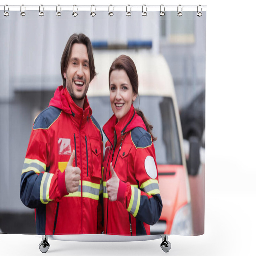
[{"label": "navy shoulder panel above white round patch on woman's jacket", "polygon": [[152,144],[151,135],[141,127],[132,129],[131,136],[136,148],[146,148]]}]

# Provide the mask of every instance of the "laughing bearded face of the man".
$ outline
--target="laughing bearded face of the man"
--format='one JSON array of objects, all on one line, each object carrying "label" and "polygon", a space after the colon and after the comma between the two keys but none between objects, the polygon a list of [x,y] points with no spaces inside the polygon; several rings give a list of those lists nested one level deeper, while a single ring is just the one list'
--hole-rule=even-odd
[{"label": "laughing bearded face of the man", "polygon": [[84,44],[73,44],[68,67],[63,73],[66,87],[77,106],[83,108],[84,97],[90,83],[90,68],[87,47]]}]

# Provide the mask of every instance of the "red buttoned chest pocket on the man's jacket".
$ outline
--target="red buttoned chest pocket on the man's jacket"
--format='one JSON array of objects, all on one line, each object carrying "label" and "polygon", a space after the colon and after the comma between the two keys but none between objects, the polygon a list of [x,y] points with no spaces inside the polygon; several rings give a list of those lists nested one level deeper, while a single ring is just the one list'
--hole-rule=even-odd
[{"label": "red buttoned chest pocket on the man's jacket", "polygon": [[90,137],[92,151],[92,176],[101,179],[101,141]]}]

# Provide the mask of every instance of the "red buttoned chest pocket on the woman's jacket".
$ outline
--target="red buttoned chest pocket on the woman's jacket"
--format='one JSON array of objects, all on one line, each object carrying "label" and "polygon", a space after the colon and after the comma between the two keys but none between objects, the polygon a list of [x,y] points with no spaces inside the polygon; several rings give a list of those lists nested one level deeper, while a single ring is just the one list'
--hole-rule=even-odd
[{"label": "red buttoned chest pocket on the woman's jacket", "polygon": [[131,147],[132,147],[131,145],[123,145],[123,147],[119,152],[117,163],[116,163],[117,175],[119,179],[124,182],[127,181],[127,169],[129,164],[128,159],[130,159],[129,153],[130,153]]}]

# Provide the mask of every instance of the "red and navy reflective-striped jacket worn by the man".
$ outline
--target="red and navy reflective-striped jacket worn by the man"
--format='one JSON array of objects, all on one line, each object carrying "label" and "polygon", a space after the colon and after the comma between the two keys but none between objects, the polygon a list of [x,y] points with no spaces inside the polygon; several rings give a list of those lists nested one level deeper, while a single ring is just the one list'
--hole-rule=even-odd
[{"label": "red and navy reflective-striped jacket worn by the man", "polygon": [[[81,169],[81,180],[78,191],[68,194],[65,168],[73,149],[73,166]],[[97,228],[101,232],[102,161],[102,134],[87,97],[79,108],[59,86],[35,120],[21,175],[20,198],[36,208],[37,234],[96,234]]]}]

